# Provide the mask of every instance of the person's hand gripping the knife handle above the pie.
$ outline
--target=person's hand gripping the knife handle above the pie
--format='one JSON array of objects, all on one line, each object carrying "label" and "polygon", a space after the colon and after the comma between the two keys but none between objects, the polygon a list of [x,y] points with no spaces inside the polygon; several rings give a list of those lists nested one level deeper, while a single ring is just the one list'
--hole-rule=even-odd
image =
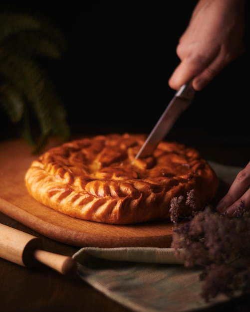
[{"label": "person's hand gripping the knife handle above the pie", "polygon": [[245,51],[245,0],[200,0],[176,48],[181,63],[169,79],[178,90],[193,78],[199,91]]}]

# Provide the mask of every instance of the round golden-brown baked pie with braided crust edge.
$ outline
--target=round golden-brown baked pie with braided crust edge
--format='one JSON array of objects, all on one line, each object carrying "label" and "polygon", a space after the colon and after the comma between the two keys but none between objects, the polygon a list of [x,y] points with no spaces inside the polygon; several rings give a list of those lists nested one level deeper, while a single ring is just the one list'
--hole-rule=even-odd
[{"label": "round golden-brown baked pie with braided crust edge", "polygon": [[182,215],[213,199],[218,178],[198,151],[163,141],[152,156],[136,159],[145,139],[110,134],[51,148],[28,168],[27,190],[61,213],[109,224],[170,219],[171,199],[191,190],[195,208]]}]

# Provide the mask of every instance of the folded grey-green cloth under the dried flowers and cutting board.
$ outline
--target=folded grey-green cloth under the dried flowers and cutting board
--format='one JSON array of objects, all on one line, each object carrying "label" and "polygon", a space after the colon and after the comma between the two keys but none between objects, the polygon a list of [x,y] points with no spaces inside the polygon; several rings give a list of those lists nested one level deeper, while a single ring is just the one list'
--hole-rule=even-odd
[{"label": "folded grey-green cloth under the dried flowers and cutting board", "polygon": [[[209,162],[218,177],[229,185],[242,169]],[[205,302],[200,296],[201,270],[185,268],[172,248],[85,247],[73,258],[82,280],[131,311],[202,311],[229,300],[219,295]]]}]

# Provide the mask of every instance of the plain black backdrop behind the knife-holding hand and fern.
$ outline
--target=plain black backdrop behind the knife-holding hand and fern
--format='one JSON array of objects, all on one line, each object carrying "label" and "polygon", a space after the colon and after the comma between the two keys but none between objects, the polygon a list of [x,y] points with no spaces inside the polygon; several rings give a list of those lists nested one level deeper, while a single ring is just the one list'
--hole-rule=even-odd
[{"label": "plain black backdrop behind the knife-holding hand and fern", "polygon": [[[67,52],[43,66],[71,132],[82,135],[152,130],[174,96],[168,79],[179,63],[175,49],[196,2],[6,1],[46,16],[65,35]],[[248,34],[247,25],[247,47]],[[248,76],[247,51],[197,93],[168,139],[249,144]]]}]

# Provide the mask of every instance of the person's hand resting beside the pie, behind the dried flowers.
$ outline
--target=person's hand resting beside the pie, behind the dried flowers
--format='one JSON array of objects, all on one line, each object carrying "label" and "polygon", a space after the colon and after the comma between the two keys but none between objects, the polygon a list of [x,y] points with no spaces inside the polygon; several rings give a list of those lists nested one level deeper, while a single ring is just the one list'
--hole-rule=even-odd
[{"label": "person's hand resting beside the pie, behind the dried flowers", "polygon": [[241,170],[232,183],[228,193],[219,201],[216,209],[227,212],[230,217],[236,216],[241,201],[250,207],[250,162]]}]

